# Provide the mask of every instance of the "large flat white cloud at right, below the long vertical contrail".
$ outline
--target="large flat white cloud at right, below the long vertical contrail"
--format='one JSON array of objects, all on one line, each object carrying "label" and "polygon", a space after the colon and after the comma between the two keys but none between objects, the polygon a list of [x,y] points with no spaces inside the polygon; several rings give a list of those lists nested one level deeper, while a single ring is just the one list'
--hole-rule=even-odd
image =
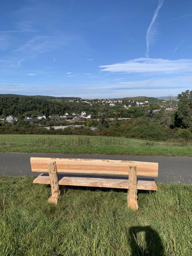
[{"label": "large flat white cloud at right, below the long vertical contrail", "polygon": [[126,61],[123,63],[115,63],[112,65],[99,66],[102,71],[108,72],[126,72],[126,73],[145,73],[145,72],[162,72],[162,73],[178,73],[191,72],[192,59],[152,59],[139,58]]}]

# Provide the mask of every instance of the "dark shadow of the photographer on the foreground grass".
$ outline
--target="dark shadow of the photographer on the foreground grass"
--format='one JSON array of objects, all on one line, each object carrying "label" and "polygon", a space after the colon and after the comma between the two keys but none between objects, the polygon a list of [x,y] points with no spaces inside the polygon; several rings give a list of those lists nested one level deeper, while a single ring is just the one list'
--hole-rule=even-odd
[{"label": "dark shadow of the photographer on the foreground grass", "polygon": [[[138,233],[145,233],[145,247],[138,243]],[[165,256],[164,246],[158,232],[150,226],[133,226],[129,229],[132,256]]]}]

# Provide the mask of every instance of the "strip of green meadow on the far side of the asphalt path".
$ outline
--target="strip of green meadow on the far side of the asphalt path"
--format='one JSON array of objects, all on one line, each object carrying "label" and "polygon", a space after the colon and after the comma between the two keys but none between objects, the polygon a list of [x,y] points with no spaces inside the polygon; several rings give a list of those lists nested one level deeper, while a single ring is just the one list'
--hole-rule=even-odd
[{"label": "strip of green meadow on the far side of the asphalt path", "polygon": [[187,143],[78,135],[0,135],[0,151],[192,157],[192,147]]}]

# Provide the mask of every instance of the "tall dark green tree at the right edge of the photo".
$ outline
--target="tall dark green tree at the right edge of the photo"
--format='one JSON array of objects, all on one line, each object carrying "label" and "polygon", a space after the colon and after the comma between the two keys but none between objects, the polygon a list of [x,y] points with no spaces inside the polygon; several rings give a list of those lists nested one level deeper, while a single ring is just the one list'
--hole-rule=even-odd
[{"label": "tall dark green tree at the right edge of the photo", "polygon": [[189,128],[192,121],[192,91],[186,90],[178,94],[178,110],[174,116],[174,124],[182,129]]}]

